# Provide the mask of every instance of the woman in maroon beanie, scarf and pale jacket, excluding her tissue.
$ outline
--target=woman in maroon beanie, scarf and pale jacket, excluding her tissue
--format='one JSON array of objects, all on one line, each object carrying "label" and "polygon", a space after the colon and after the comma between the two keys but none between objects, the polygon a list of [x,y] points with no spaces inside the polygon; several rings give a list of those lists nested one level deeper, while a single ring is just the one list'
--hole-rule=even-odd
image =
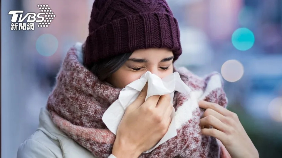
[{"label": "woman in maroon beanie, scarf and pale jacket, excluding her tissue", "polygon": [[[236,114],[225,109],[220,75],[199,78],[174,68],[182,53],[179,37],[164,0],[96,0],[89,36],[68,51],[41,109],[40,126],[21,144],[18,158],[259,157]],[[145,101],[145,86],[127,107],[115,136],[103,123],[103,113],[123,87],[146,71],[160,78],[177,71],[193,92],[175,92],[171,105],[169,95]],[[143,153],[167,132],[172,106],[177,136]]]}]

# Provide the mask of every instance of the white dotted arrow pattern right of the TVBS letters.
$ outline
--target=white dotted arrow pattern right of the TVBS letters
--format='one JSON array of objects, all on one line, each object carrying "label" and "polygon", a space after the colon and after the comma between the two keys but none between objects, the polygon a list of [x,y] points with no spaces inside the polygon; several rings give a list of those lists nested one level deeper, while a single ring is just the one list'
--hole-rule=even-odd
[{"label": "white dotted arrow pattern right of the TVBS letters", "polygon": [[48,27],[50,23],[53,21],[53,19],[56,17],[54,12],[52,12],[51,8],[48,5],[37,5],[41,13],[45,13],[44,21],[39,23],[37,27]]}]

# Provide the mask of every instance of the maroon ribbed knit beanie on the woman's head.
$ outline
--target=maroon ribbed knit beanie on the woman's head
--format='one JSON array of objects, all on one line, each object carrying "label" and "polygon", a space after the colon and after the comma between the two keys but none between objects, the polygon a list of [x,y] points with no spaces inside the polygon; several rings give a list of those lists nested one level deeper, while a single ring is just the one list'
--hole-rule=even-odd
[{"label": "maroon ribbed knit beanie on the woman's head", "polygon": [[83,64],[137,49],[168,48],[182,53],[177,20],[165,0],[95,0]]}]

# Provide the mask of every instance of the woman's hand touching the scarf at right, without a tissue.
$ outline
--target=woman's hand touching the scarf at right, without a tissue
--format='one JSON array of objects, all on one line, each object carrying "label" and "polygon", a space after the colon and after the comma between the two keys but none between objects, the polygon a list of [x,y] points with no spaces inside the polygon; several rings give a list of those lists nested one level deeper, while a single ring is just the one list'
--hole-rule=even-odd
[{"label": "woman's hand touching the scarf at right, without a tissue", "polygon": [[[216,103],[199,101],[206,109],[200,124],[203,135],[219,139],[232,158],[258,158],[259,153],[241,125],[237,114]],[[213,128],[210,128],[213,126]]]}]

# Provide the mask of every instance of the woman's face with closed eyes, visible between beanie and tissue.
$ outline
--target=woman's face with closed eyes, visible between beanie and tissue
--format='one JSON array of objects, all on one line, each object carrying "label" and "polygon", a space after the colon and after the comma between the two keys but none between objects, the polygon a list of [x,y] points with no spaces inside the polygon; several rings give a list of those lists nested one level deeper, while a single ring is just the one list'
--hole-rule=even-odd
[{"label": "woman's face with closed eyes, visible between beanie and tissue", "polygon": [[172,51],[165,48],[135,50],[125,64],[108,78],[108,82],[123,88],[147,71],[163,78],[173,73],[172,60]]}]

